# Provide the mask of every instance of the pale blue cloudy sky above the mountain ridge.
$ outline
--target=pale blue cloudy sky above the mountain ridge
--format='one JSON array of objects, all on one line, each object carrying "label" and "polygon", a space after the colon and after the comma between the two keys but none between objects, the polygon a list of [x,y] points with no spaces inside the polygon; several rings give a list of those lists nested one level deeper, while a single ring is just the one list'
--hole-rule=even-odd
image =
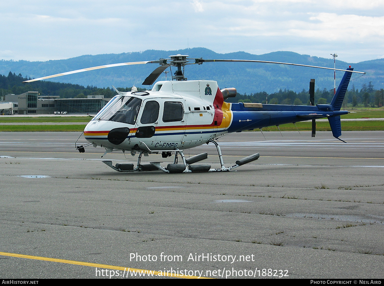
[{"label": "pale blue cloudy sky above the mountain ridge", "polygon": [[356,63],[384,58],[383,15],[382,0],[2,1],[0,59],[204,47]]}]

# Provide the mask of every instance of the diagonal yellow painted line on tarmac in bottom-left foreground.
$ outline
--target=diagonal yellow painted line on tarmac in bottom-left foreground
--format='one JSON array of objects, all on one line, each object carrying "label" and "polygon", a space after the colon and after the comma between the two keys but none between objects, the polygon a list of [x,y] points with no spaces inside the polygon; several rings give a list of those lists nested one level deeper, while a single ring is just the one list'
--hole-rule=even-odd
[{"label": "diagonal yellow painted line on tarmac in bottom-left foreground", "polygon": [[[198,276],[185,276],[180,274],[174,274],[169,273],[168,271],[152,271],[152,270],[146,270],[146,269],[136,269],[136,268],[126,268],[121,266],[113,266],[113,265],[106,265],[106,264],[98,264],[98,263],[89,263],[89,262],[82,262],[82,261],[74,261],[74,260],[65,260],[65,259],[58,259],[58,258],[50,258],[50,257],[42,257],[42,256],[32,256],[32,255],[24,255],[24,254],[17,254],[17,253],[7,253],[7,252],[0,252],[0,255],[4,256],[12,256],[12,257],[18,257],[18,258],[27,258],[27,259],[35,259],[35,260],[44,260],[44,261],[52,261],[52,262],[59,262],[59,263],[68,263],[68,264],[74,264],[74,265],[82,265],[82,266],[90,266],[90,267],[99,267],[99,268],[106,268],[106,269],[114,269],[114,270],[121,270],[124,271],[123,273],[119,273],[120,276],[118,277],[126,277],[129,274],[129,271],[136,272],[138,276],[135,276],[134,274],[130,276],[131,277],[140,277],[139,273],[141,273],[142,277],[151,276],[151,274],[155,276],[169,276],[169,277],[177,277],[177,278],[187,278],[187,279],[197,279]],[[100,270],[101,271],[101,270]],[[126,274],[124,274],[126,273]],[[151,274],[149,274],[151,273]],[[123,276],[124,275],[124,276]],[[106,275],[109,276],[109,275]],[[104,276],[104,277],[106,277]],[[113,276],[116,277],[116,276]],[[207,277],[200,277],[200,279],[210,279]]]}]

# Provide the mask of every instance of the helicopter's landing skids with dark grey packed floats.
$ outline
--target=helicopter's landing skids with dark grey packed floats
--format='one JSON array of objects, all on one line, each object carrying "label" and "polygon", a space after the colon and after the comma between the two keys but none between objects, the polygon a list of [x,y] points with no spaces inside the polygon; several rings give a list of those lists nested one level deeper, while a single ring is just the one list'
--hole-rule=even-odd
[{"label": "helicopter's landing skids with dark grey packed floats", "polygon": [[[208,154],[206,152],[201,153],[199,155],[195,155],[192,157],[189,157],[185,159],[183,150],[166,150],[164,152],[175,152],[175,159],[173,164],[168,164],[167,167],[162,167],[160,164],[162,162],[149,162],[149,164],[141,164],[141,157],[142,155],[148,156],[148,154],[151,154],[153,152],[157,151],[151,151],[144,143],[145,149],[138,151],[139,152],[139,158],[137,159],[137,164],[134,166],[132,163],[117,163],[115,166],[112,164],[112,161],[106,160],[102,161],[107,166],[111,167],[115,171],[118,172],[144,172],[144,171],[154,171],[154,170],[161,170],[164,173],[197,173],[197,172],[229,172],[232,169],[235,169],[237,167],[240,167],[244,164],[247,164],[249,162],[252,162],[254,160],[257,160],[260,155],[259,153],[244,157],[243,159],[237,160],[236,164],[230,167],[225,167],[223,162],[223,155],[221,153],[220,146],[216,141],[210,140],[209,142],[212,142],[215,144],[218,157],[220,160],[220,169],[211,168],[210,165],[192,165],[196,162],[199,162],[201,160],[207,159]],[[159,151],[162,152],[162,151]],[[178,164],[179,156],[182,159],[182,164]]]}]

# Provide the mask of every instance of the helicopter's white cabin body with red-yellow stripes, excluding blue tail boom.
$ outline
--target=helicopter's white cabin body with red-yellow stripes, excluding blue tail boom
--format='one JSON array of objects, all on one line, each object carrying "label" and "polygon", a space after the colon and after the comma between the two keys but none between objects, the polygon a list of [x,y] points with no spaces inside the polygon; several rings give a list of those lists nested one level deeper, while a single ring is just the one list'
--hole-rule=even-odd
[{"label": "helicopter's white cabin body with red-yellow stripes, excluding blue tail boom", "polygon": [[142,142],[153,151],[188,149],[227,133],[231,119],[216,81],[159,81],[151,91],[120,92],[84,137],[107,151],[140,150]]}]

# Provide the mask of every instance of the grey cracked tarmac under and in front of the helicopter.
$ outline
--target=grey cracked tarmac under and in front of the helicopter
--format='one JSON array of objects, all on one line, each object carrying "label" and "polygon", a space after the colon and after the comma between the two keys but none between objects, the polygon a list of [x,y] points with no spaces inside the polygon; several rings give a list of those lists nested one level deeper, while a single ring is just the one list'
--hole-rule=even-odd
[{"label": "grey cracked tarmac under and in front of the helicopter", "polygon": [[[0,136],[0,252],[48,258],[0,255],[2,278],[122,278],[125,268],[383,278],[382,131],[343,132],[347,143],[331,132],[230,134],[219,139],[226,165],[256,152],[260,159],[236,172],[193,174],[115,172],[101,160],[137,155],[78,153],[80,132]],[[184,154],[202,152],[203,164],[218,167],[214,145]]]}]

